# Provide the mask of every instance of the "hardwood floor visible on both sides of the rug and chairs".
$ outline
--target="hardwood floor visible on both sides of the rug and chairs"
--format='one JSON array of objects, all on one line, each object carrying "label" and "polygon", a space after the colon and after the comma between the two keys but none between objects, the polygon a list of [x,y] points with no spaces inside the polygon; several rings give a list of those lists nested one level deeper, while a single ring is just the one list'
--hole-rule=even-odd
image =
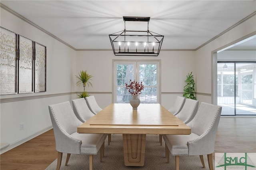
[{"label": "hardwood floor visible on both sides of the rug and chairs", "polygon": [[[256,117],[221,117],[214,152],[256,152]],[[49,130],[1,154],[0,169],[44,170],[56,158],[54,133]]]}]

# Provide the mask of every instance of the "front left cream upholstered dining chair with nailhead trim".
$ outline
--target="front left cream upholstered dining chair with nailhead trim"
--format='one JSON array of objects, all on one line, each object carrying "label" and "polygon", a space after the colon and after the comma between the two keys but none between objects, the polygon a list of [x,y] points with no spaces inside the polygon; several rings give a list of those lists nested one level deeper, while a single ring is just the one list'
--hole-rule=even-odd
[{"label": "front left cream upholstered dining chair with nailhead trim", "polygon": [[77,133],[77,127],[82,122],[74,114],[70,102],[49,105],[49,112],[58,151],[57,170],[60,169],[62,153],[67,153],[65,165],[68,164],[70,154],[89,154],[89,168],[92,170],[93,155],[100,150],[102,162],[106,134]]}]

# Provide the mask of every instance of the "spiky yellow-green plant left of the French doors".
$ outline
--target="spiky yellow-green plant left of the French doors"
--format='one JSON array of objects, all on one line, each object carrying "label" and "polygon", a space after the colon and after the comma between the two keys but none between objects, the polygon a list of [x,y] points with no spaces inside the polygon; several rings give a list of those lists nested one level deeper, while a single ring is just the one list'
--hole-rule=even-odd
[{"label": "spiky yellow-green plant left of the French doors", "polygon": [[92,75],[89,75],[86,71],[80,71],[80,73],[78,74],[78,76],[76,75],[76,78],[78,78],[79,80],[76,82],[76,85],[78,86],[78,87],[80,87],[80,85],[82,84],[83,85],[83,87],[84,87],[84,92],[81,92],[80,94],[78,94],[77,96],[78,96],[78,98],[85,98],[85,97],[88,97],[89,96],[89,94],[88,93],[86,93],[86,91],[85,91],[85,87],[86,87],[86,85],[88,85],[88,86],[92,86],[92,83],[90,82],[91,81],[91,78],[92,78],[93,76]]}]

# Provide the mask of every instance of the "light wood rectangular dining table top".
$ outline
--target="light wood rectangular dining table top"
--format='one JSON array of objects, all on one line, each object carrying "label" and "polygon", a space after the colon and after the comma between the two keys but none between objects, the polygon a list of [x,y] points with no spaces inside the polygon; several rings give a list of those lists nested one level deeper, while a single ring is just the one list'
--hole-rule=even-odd
[{"label": "light wood rectangular dining table top", "polygon": [[158,103],[112,103],[77,128],[78,133],[191,134],[191,128]]}]

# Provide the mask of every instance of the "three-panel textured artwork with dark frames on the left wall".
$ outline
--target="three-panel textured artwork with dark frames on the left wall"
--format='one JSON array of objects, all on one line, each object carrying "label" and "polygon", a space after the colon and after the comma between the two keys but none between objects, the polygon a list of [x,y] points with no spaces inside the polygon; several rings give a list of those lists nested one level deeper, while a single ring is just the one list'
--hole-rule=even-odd
[{"label": "three-panel textured artwork with dark frames on the left wall", "polygon": [[0,94],[46,91],[46,47],[0,27]]}]

